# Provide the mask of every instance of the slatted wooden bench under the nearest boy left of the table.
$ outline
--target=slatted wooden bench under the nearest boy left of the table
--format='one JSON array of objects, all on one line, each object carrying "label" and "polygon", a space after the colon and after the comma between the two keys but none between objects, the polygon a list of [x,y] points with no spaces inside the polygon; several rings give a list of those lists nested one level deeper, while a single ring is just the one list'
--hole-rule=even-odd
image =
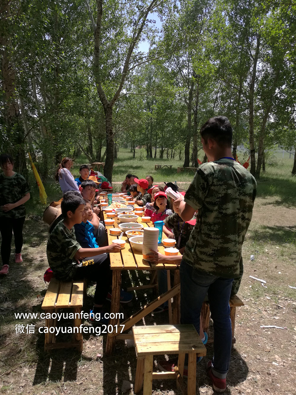
[{"label": "slatted wooden bench under the nearest boy left of the table", "polygon": [[[52,313],[58,312],[60,308],[73,308],[75,318],[73,327],[81,325],[81,308],[83,304],[84,281],[62,282],[52,278],[47,288],[41,308],[45,314],[49,313],[50,318],[45,318],[47,328],[56,326],[56,318],[52,318]],[[73,333],[73,339],[70,342],[56,342],[54,333],[45,333],[44,350],[49,351],[54,348],[77,348],[82,352],[83,340],[82,333]]]}]

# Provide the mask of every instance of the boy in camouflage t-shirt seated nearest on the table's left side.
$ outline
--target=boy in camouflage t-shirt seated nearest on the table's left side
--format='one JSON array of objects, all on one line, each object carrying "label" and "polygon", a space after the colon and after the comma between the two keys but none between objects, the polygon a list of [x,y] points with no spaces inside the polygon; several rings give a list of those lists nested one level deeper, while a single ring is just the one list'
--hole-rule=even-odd
[{"label": "boy in camouflage t-shirt seated nearest on the table's left side", "polygon": [[101,248],[82,248],[75,238],[74,225],[85,217],[84,200],[75,194],[63,196],[63,219],[58,222],[47,242],[47,260],[54,276],[60,281],[89,278],[96,281],[93,312],[95,325],[105,323],[102,307],[111,284],[111,271],[107,252],[119,252],[120,244]]}]

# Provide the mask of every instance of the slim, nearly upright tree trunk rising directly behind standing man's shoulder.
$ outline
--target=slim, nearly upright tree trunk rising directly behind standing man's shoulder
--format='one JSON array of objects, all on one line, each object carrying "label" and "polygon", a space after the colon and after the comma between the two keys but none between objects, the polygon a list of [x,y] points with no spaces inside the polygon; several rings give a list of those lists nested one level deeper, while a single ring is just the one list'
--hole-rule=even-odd
[{"label": "slim, nearly upright tree trunk rising directly behind standing man's shoulder", "polygon": [[250,142],[250,154],[251,154],[250,173],[254,176],[256,171],[255,141],[254,141],[254,91],[255,91],[255,80],[256,80],[257,62],[259,57],[259,49],[260,49],[260,35],[257,36],[257,45],[256,45],[255,56],[254,56],[254,62],[253,62],[253,71],[252,71],[252,79],[251,79],[250,94],[249,94],[249,142]]}]

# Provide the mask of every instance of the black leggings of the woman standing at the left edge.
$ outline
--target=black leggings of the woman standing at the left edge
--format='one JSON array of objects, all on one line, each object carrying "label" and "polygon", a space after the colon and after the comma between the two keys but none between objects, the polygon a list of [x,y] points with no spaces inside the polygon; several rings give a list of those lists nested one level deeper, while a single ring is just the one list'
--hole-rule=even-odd
[{"label": "black leggings of the woman standing at the left edge", "polygon": [[24,220],[25,217],[0,217],[0,232],[2,236],[1,258],[3,265],[9,265],[12,231],[14,235],[15,253],[19,254],[22,250],[22,228],[24,227]]}]

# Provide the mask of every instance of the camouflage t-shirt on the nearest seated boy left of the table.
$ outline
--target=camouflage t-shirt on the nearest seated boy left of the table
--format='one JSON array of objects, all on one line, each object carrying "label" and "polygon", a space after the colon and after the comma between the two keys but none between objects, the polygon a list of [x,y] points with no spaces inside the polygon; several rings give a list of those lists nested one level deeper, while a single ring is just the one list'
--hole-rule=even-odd
[{"label": "camouflage t-shirt on the nearest seated boy left of the table", "polygon": [[69,230],[63,220],[60,221],[49,235],[46,248],[49,266],[58,280],[72,280],[78,267],[74,255],[79,248],[74,227]]}]

